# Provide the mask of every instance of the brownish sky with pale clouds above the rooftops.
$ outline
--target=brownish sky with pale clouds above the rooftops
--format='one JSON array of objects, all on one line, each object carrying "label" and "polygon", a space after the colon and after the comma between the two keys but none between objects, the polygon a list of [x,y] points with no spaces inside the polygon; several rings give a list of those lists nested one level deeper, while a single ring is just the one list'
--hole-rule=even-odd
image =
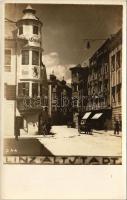
[{"label": "brownish sky with pale clouds above the rooftops", "polygon": [[[6,4],[5,17],[17,21],[27,4]],[[62,5],[31,4],[36,16],[43,23],[42,60],[47,74],[54,74],[58,79],[71,82],[70,67],[88,64],[89,57],[110,35],[122,27],[122,6],[118,5]],[[6,34],[14,29],[7,24]],[[95,39],[86,48],[84,39]]]}]

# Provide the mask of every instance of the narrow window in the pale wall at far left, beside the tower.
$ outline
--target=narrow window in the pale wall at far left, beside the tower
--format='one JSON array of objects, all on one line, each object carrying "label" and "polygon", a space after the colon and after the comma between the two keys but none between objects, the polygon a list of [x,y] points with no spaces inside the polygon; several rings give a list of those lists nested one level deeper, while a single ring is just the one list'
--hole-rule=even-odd
[{"label": "narrow window in the pale wall at far left, beside the tower", "polygon": [[5,49],[5,71],[11,71],[11,49]]}]

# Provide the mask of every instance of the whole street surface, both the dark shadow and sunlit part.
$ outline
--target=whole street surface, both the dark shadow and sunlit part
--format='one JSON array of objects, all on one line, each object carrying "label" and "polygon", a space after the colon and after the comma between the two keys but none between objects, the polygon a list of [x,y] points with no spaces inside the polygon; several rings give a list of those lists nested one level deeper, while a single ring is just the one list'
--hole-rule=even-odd
[{"label": "whole street surface, both the dark shadow and sunlit part", "polygon": [[[5,154],[56,156],[121,156],[122,133],[93,130],[93,135],[79,134],[75,128],[53,126],[50,135],[22,135],[18,141],[5,139]],[[10,147],[8,150],[7,147]],[[13,148],[11,148],[13,147]],[[14,148],[15,147],[15,148]],[[14,151],[17,149],[17,151]]]}]

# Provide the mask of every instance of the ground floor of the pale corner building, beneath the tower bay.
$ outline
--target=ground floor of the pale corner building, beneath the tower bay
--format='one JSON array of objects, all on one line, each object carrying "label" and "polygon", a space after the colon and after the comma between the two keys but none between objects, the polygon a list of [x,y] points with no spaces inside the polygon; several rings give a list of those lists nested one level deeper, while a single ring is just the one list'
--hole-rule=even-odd
[{"label": "ground floor of the pale corner building, beneath the tower bay", "polygon": [[[48,119],[48,107],[38,101],[27,99],[5,100],[4,102],[4,135],[38,135],[42,123]],[[36,102],[36,103],[35,103]],[[28,106],[29,105],[29,106]]]}]

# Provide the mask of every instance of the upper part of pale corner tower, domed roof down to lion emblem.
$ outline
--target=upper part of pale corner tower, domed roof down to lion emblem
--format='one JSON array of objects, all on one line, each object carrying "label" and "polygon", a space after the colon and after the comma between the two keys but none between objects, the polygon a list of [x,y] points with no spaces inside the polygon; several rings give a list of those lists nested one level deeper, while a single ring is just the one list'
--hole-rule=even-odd
[{"label": "upper part of pale corner tower, domed roof down to lion emblem", "polygon": [[[32,83],[40,82],[40,65],[42,56],[41,28],[42,23],[35,16],[35,10],[30,5],[23,11],[24,16],[17,22],[17,38],[26,40],[21,49],[20,80]],[[39,95],[39,90],[38,94]],[[29,96],[34,96],[29,90]]]}]

